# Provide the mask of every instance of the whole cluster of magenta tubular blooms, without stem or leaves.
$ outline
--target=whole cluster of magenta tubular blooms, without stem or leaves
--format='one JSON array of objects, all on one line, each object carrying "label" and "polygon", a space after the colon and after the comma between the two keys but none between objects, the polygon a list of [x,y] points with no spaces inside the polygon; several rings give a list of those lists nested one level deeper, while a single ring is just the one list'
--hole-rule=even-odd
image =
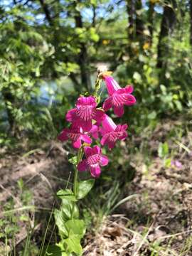
[{"label": "whole cluster of magenta tubular blooms, without stem or leaves", "polygon": [[[105,114],[113,108],[114,114],[122,117],[124,105],[131,106],[136,103],[132,95],[133,87],[121,88],[118,83],[108,75],[103,75],[109,97],[102,108],[97,108],[97,101],[93,96],[80,96],[75,108],[66,114],[66,120],[71,123],[70,128],[63,129],[58,136],[61,141],[71,140],[73,147],[80,149],[82,142],[92,144],[92,139],[100,139],[102,146],[107,145],[111,150],[117,140],[127,137],[127,124],[114,124],[113,120]],[[84,146],[85,159],[78,164],[79,171],[90,170],[90,174],[97,178],[100,176],[100,166],[108,164],[107,156],[102,155],[99,146]]]}]

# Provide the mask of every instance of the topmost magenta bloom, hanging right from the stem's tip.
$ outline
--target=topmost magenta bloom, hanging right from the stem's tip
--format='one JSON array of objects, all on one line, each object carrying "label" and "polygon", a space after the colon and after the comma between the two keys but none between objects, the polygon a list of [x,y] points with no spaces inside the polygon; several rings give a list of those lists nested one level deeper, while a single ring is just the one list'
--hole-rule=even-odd
[{"label": "topmost magenta bloom, hanging right from the stem's tip", "polygon": [[136,103],[135,97],[131,94],[133,87],[128,85],[125,88],[121,88],[110,76],[104,77],[104,79],[110,97],[105,100],[103,110],[107,111],[113,107],[114,114],[117,114],[118,117],[122,117],[124,114],[124,105],[131,106]]}]

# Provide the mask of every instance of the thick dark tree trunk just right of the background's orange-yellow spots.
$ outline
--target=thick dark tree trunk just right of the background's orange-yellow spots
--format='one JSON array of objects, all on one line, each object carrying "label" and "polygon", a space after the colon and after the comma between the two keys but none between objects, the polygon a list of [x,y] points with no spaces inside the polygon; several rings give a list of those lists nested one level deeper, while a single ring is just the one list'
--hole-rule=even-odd
[{"label": "thick dark tree trunk just right of the background's orange-yellow spots", "polygon": [[156,68],[161,68],[161,75],[164,76],[166,69],[166,55],[168,53],[169,47],[166,39],[169,38],[171,33],[174,31],[174,26],[176,24],[176,0],[166,1],[164,6],[164,13],[161,20],[161,31],[159,34],[159,43],[157,46],[157,63]]}]

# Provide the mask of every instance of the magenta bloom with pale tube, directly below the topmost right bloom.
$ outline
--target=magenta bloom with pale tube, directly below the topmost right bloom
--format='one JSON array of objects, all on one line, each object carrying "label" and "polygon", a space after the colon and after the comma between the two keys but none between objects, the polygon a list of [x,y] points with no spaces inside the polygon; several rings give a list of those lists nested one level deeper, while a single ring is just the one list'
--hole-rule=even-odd
[{"label": "magenta bloom with pale tube, directly below the topmost right bloom", "polygon": [[114,124],[112,119],[105,114],[105,119],[102,121],[102,128],[100,129],[102,134],[101,144],[106,144],[109,149],[112,149],[117,139],[124,140],[127,137],[127,127],[127,124]]}]

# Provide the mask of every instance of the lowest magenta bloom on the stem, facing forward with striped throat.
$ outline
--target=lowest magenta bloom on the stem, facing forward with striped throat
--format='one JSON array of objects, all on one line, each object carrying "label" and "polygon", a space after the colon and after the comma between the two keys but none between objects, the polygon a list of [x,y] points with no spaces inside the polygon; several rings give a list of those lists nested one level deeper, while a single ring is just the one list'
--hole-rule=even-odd
[{"label": "lowest magenta bloom on the stem, facing forward with striped throat", "polygon": [[85,146],[84,152],[86,159],[83,159],[78,164],[78,170],[90,170],[93,177],[99,177],[101,174],[100,166],[106,166],[109,162],[107,156],[101,154],[101,149],[99,146],[93,146],[92,148],[90,146]]}]

